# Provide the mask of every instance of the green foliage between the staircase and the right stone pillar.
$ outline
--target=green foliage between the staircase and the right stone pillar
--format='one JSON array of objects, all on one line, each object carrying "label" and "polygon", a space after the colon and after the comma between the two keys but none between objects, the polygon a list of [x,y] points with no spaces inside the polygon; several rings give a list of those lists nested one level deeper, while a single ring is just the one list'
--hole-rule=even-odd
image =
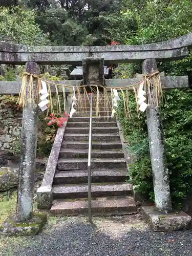
[{"label": "green foliage between the staircase and the right stone pillar", "polygon": [[122,131],[128,142],[128,150],[133,154],[135,161],[129,169],[134,185],[139,185],[140,193],[151,195],[153,179],[150,161],[150,151],[147,139],[147,125],[145,114],[137,114],[137,105],[134,93],[130,95],[131,119],[124,118],[123,101],[120,101],[118,116]]}]

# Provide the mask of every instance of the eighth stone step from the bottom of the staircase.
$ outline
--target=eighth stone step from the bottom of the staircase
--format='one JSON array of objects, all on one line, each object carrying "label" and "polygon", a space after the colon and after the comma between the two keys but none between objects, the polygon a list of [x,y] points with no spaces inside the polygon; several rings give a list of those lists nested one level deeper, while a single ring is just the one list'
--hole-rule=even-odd
[{"label": "eighth stone step from the bottom of the staircase", "polygon": [[[118,127],[92,127],[92,134],[117,134]],[[65,134],[89,134],[89,127],[67,127]],[[77,135],[78,136],[78,135]]]}]

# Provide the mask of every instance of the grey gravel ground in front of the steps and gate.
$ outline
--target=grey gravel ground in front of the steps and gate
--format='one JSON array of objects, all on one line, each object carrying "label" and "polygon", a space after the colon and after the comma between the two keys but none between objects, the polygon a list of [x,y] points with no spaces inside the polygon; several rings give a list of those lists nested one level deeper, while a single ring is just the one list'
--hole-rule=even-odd
[{"label": "grey gravel ground in front of the steps and gate", "polygon": [[1,238],[2,256],[169,256],[192,255],[192,231],[153,232],[139,216],[51,217],[32,238]]}]

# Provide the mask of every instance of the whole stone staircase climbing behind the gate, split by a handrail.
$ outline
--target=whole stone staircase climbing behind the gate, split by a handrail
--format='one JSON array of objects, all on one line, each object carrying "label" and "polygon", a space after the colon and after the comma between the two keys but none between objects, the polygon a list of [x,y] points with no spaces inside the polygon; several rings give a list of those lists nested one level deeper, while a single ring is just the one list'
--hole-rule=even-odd
[{"label": "whole stone staircase climbing behind the gate, split by a handrail", "polygon": [[[93,111],[94,111],[93,105]],[[81,114],[82,115],[82,114]],[[90,118],[68,120],[53,180],[52,215],[88,214],[88,147]],[[103,115],[104,116],[104,115]],[[115,119],[93,117],[92,212],[125,215],[137,212]]]}]

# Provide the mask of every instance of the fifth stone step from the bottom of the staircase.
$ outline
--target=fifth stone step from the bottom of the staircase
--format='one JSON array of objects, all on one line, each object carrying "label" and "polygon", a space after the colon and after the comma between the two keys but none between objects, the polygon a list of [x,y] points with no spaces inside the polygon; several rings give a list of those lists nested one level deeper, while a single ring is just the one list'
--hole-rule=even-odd
[{"label": "fifth stone step from the bottom of the staircase", "polygon": [[[60,158],[86,158],[88,159],[88,150],[75,150],[74,148],[61,148]],[[92,150],[92,158],[123,158],[123,151],[117,150]]]}]

